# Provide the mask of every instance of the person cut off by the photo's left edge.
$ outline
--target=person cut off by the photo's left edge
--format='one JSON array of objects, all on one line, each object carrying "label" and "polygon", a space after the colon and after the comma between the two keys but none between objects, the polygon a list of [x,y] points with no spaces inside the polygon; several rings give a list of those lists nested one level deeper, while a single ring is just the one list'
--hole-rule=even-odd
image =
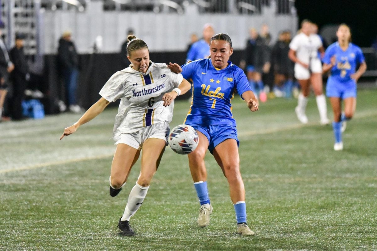
[{"label": "person cut off by the photo's left edge", "polygon": [[5,97],[8,93],[9,73],[14,69],[4,41],[1,38],[3,28],[4,24],[0,23],[0,121],[2,120]]}]

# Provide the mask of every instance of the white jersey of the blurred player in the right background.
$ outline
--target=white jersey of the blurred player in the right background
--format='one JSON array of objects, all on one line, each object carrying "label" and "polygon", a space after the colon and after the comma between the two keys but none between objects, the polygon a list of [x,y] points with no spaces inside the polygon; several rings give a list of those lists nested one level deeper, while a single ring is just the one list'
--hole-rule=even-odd
[{"label": "white jersey of the blurred player in the right background", "polygon": [[307,36],[301,32],[294,36],[289,47],[296,51],[297,59],[309,64],[310,58],[318,58],[318,49],[322,47],[322,40],[317,34]]}]

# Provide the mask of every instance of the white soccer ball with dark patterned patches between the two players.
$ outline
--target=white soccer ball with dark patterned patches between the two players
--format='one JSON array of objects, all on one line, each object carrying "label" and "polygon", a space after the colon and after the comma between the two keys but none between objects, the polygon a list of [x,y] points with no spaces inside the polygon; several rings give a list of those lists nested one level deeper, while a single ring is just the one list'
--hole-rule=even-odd
[{"label": "white soccer ball with dark patterned patches between the two players", "polygon": [[169,146],[177,154],[189,154],[198,146],[199,137],[189,125],[178,125],[169,134]]}]

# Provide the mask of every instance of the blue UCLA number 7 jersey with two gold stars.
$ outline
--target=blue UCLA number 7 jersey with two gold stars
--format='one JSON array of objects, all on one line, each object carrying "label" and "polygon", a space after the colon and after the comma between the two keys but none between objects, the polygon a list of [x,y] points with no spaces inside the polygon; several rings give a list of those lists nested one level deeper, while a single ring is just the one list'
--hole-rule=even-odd
[{"label": "blue UCLA number 7 jersey with two gold stars", "polygon": [[251,91],[244,71],[230,61],[225,69],[216,70],[209,58],[185,64],[182,69],[183,77],[193,82],[193,101],[184,123],[236,126],[231,113],[234,91],[240,96]]}]

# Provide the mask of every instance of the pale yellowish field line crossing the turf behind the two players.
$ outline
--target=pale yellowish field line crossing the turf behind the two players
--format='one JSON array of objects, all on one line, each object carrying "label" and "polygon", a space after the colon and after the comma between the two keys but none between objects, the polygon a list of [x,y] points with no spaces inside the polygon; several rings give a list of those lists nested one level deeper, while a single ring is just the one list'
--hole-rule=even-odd
[{"label": "pale yellowish field line crossing the turf behind the two players", "polygon": [[[370,117],[370,116],[377,116],[377,112],[355,114],[355,118],[363,118],[363,117]],[[318,123],[313,122],[313,123],[308,123],[306,125],[297,123],[297,124],[285,126],[285,127],[282,127],[282,128],[270,128],[270,129],[265,129],[265,130],[241,132],[238,135],[241,136],[241,137],[245,137],[245,136],[250,136],[250,135],[271,134],[271,133],[274,133],[274,132],[288,131],[288,130],[291,130],[291,129],[303,128],[303,127],[306,127],[306,126],[313,126],[313,125],[318,125]],[[46,167],[46,166],[68,164],[68,163],[74,163],[74,162],[80,162],[80,161],[86,161],[86,160],[97,160],[97,159],[108,158],[108,157],[112,157],[112,156],[113,156],[113,154],[106,154],[106,155],[99,155],[99,156],[86,157],[86,158],[77,158],[77,159],[72,159],[72,160],[51,161],[51,162],[40,163],[40,164],[35,164],[35,165],[29,165],[29,166],[0,170],[0,174],[18,171],[18,170],[31,170],[31,169],[37,169],[37,168]]]}]

